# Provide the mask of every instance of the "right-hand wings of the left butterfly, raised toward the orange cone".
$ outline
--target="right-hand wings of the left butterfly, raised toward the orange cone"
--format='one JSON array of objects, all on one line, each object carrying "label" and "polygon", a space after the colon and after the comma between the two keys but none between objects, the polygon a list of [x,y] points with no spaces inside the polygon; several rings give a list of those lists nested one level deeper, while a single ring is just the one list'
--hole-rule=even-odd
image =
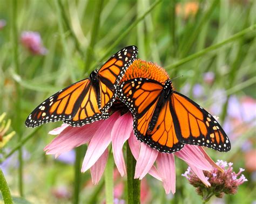
[{"label": "right-hand wings of the left butterfly, raised toward the orange cone", "polygon": [[116,88],[125,74],[126,69],[136,60],[138,49],[136,46],[128,46],[114,54],[99,69],[99,109],[106,111],[116,99]]}]

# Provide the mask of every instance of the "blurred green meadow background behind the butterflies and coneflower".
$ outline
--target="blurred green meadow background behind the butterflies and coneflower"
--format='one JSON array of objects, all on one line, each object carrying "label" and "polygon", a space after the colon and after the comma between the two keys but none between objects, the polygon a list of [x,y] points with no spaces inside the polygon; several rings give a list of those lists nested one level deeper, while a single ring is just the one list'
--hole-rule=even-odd
[{"label": "blurred green meadow background behind the butterflies and coneflower", "polygon": [[[12,195],[22,192],[31,203],[74,202],[75,151],[57,160],[43,151],[53,139],[48,131],[62,123],[37,130],[26,128],[24,121],[46,97],[86,78],[120,48],[136,45],[140,59],[165,67],[171,78],[183,75],[174,87],[220,117],[232,150],[207,153],[234,163],[237,172],[245,168],[248,181],[236,195],[210,202],[256,203],[255,13],[253,0],[1,0],[0,114],[6,112],[6,121],[11,119],[5,135],[16,134],[0,150],[0,158]],[[24,31],[41,35],[42,52],[28,49]],[[31,133],[22,153],[14,151],[6,158]],[[186,168],[176,159],[174,195],[165,195],[160,181],[143,179],[142,202],[200,203],[181,177]],[[114,174],[116,203],[123,203],[126,178]],[[90,172],[80,176],[80,203],[104,203],[104,179],[93,186]]]}]

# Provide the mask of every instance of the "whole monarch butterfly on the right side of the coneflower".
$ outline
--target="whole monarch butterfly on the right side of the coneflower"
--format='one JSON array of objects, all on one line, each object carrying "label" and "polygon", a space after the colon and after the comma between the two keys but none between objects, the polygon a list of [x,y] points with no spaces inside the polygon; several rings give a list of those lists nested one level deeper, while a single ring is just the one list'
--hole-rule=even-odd
[{"label": "whole monarch butterfly on the right side of the coneflower", "polygon": [[169,78],[162,83],[151,78],[128,79],[117,91],[118,99],[133,114],[134,133],[140,141],[168,153],[179,151],[184,144],[225,152],[231,149],[230,140],[212,115],[174,91]]}]

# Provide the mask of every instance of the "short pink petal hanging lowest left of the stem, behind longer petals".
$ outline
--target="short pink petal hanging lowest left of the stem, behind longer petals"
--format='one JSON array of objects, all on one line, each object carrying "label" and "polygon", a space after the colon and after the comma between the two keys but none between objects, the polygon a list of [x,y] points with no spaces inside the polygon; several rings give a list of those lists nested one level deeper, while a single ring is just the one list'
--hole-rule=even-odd
[{"label": "short pink petal hanging lowest left of the stem, behind longer petals", "polygon": [[102,156],[100,156],[99,159],[96,161],[96,163],[92,165],[92,167],[90,168],[92,183],[94,185],[97,185],[99,180],[102,178],[108,157],[109,157],[109,150],[106,149],[102,154]]}]

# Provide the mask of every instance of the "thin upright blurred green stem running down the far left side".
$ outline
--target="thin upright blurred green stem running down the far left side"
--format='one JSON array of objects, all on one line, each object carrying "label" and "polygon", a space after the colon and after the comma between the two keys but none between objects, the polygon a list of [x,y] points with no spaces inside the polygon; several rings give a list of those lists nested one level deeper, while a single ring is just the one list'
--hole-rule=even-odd
[{"label": "thin upright blurred green stem running down the far left side", "polygon": [[[19,57],[18,57],[18,26],[17,26],[17,0],[12,1],[12,45],[14,51],[14,63],[16,73],[20,75],[20,67],[19,67]],[[16,82],[16,90],[17,90],[17,99],[16,99],[16,132],[18,135],[18,141],[21,142],[22,133],[21,133],[21,87]],[[22,146],[18,149],[18,160],[19,160],[19,168],[18,168],[18,186],[19,186],[19,194],[23,196],[23,158],[22,158]]]}]

